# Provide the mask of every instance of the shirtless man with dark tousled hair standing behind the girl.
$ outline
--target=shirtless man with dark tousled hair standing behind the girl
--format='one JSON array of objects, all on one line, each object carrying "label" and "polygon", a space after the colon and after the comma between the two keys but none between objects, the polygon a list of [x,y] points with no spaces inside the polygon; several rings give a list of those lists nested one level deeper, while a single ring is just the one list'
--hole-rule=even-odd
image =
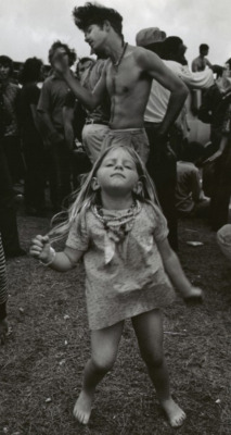
[{"label": "shirtless man with dark tousled hair standing behind the girl", "polygon": [[108,60],[92,92],[73,77],[68,59],[62,49],[53,63],[56,72],[89,110],[98,107],[105,92],[108,92],[111,130],[102,150],[116,144],[131,145],[146,162],[149,141],[143,128],[143,114],[152,79],[155,78],[170,91],[168,109],[158,132],[159,139],[165,137],[183,105],[188,96],[185,85],[156,54],[124,42],[123,17],[115,10],[86,3],[85,7],[75,8],[73,15],[77,27],[85,33],[85,40],[93,50],[104,52]]}]

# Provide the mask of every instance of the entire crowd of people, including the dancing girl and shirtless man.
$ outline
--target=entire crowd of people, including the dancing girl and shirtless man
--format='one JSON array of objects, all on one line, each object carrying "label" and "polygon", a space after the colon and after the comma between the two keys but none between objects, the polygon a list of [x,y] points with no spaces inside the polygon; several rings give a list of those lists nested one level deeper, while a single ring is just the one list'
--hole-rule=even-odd
[{"label": "entire crowd of people, including the dancing girl and shirtless man", "polygon": [[[203,44],[191,71],[178,36],[143,28],[133,47],[115,10],[86,3],[73,17],[94,54],[79,59],[75,72],[76,51],[59,40],[49,49],[47,78],[34,57],[17,84],[13,61],[0,55],[0,338],[8,328],[4,258],[26,253],[17,204],[46,216],[49,191],[51,213],[65,210],[68,219],[36,236],[30,253],[56,271],[84,256],[87,275],[92,355],[75,417],[88,423],[95,387],[131,318],[159,402],[180,426],[185,414],[170,395],[159,308],[175,299],[174,288],[185,300],[203,299],[176,253],[179,216],[207,219],[219,244],[229,243],[231,59],[211,64]],[[210,124],[206,146],[189,141],[185,100],[193,89],[202,90],[196,115]],[[64,251],[55,252],[50,240],[64,236]]]}]

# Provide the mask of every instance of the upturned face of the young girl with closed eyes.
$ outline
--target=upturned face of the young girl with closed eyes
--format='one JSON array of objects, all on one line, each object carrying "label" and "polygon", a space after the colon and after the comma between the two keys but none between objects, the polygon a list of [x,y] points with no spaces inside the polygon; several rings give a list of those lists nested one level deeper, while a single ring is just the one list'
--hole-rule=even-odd
[{"label": "upturned face of the young girl with closed eyes", "polygon": [[124,148],[110,151],[103,159],[94,178],[94,187],[112,194],[132,192],[139,175],[132,157]]}]

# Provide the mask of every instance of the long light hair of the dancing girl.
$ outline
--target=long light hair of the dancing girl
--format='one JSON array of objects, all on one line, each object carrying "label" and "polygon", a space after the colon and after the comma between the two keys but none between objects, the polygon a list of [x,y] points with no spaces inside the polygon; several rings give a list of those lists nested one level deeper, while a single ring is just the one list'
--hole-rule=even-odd
[{"label": "long light hair of the dancing girl", "polygon": [[93,167],[90,171],[90,173],[85,177],[85,181],[82,182],[80,189],[74,191],[69,196],[69,200],[73,203],[68,209],[68,217],[60,224],[55,224],[55,223],[62,220],[63,212],[57,213],[52,219],[51,224],[52,224],[52,226],[54,225],[54,227],[49,232],[49,236],[53,240],[60,240],[60,239],[66,237],[69,232],[72,223],[76,220],[76,217],[78,215],[80,216],[80,219],[82,216],[85,217],[86,212],[93,204],[101,203],[100,191],[93,190],[92,179],[94,177],[97,177],[98,170],[100,169],[103,160],[108,154],[108,152],[112,151],[113,149],[118,149],[118,148],[125,149],[131,156],[131,158],[136,164],[136,167],[137,167],[139,181],[142,183],[142,188],[140,189],[140,191],[133,192],[134,199],[138,199],[140,202],[150,203],[151,206],[154,203],[157,203],[159,206],[154,184],[153,184],[143,162],[141,161],[140,157],[134,151],[134,149],[131,147],[126,147],[126,146],[121,146],[121,147],[114,146],[114,147],[107,148],[99,157],[99,159],[93,164]]}]

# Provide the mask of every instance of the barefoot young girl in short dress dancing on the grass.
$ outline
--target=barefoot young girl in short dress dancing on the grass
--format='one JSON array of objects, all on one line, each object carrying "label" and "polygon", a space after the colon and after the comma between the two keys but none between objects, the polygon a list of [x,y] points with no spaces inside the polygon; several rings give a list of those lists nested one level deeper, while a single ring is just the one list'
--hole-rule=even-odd
[{"label": "barefoot young girl in short dress dancing on the grass", "polygon": [[159,402],[171,426],[180,426],[185,414],[169,391],[159,308],[175,299],[170,281],[184,299],[202,297],[202,290],[191,286],[168,245],[166,220],[136,151],[113,147],[98,159],[68,223],[56,229],[57,236],[67,233],[64,251],[55,252],[49,237],[38,235],[30,253],[60,272],[84,256],[91,358],[74,415],[88,423],[95,387],[112,369],[124,321],[131,318]]}]

